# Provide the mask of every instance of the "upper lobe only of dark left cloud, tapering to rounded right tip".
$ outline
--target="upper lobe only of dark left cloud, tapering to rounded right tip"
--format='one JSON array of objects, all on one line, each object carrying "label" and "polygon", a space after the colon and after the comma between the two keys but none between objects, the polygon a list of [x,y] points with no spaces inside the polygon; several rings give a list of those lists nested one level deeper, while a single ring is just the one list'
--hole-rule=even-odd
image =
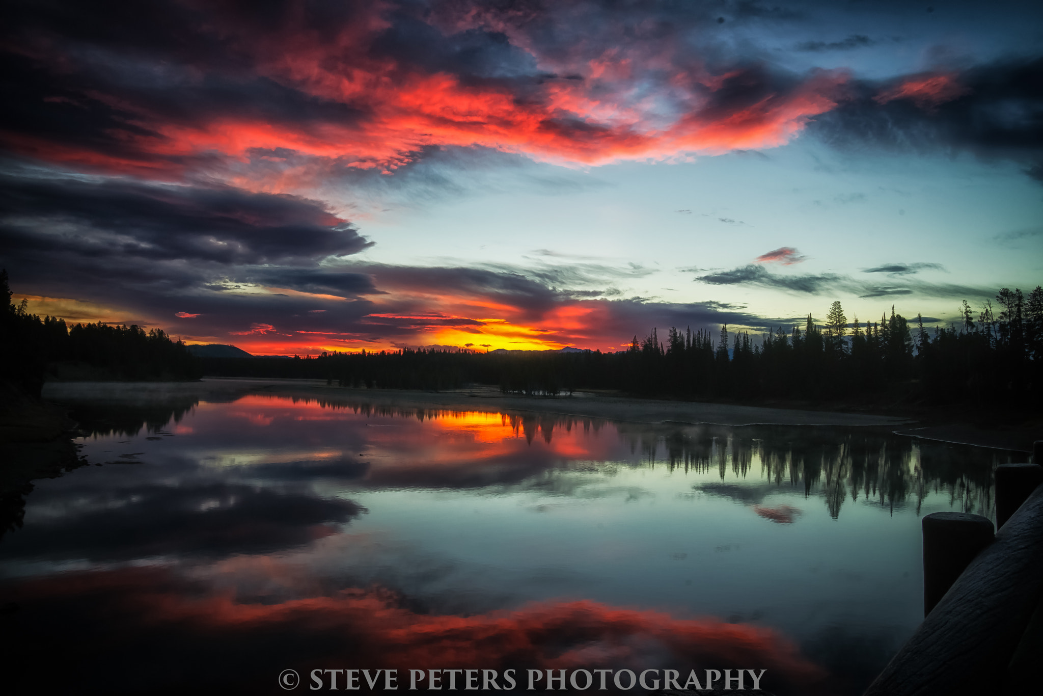
[{"label": "upper lobe only of dark left cloud, tapering to rounded right tip", "polygon": [[7,175],[0,214],[7,244],[147,262],[293,263],[371,244],[314,200],[231,187]]}]

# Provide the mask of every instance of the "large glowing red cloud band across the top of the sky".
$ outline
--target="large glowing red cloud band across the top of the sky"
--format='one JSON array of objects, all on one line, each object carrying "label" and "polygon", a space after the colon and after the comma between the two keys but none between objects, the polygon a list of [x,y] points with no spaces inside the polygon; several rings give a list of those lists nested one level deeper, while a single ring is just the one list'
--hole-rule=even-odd
[{"label": "large glowing red cloud band across the top of the sky", "polygon": [[[583,48],[540,46],[513,30],[512,48],[529,53],[539,71],[523,80],[475,79],[428,65],[417,53],[379,48],[392,26],[379,3],[339,25],[319,26],[306,13],[291,13],[278,29],[222,15],[226,9],[214,8],[209,21],[185,30],[208,47],[220,45],[246,73],[224,75],[223,56],[209,48],[205,59],[166,56],[189,85],[207,75],[264,80],[324,111],[299,118],[275,103],[233,109],[224,100],[170,110],[153,103],[152,93],[112,86],[83,95],[120,114],[123,127],[107,145],[0,137],[39,158],[150,178],[177,178],[194,167],[214,174],[223,161],[229,183],[289,191],[332,168],[390,173],[431,146],[488,147],[585,165],[775,147],[832,110],[848,79],[835,71],[802,81],[751,68],[714,74],[687,54],[685,42],[630,37],[621,44],[600,37]],[[70,61],[60,43],[31,50],[55,66]]]}]

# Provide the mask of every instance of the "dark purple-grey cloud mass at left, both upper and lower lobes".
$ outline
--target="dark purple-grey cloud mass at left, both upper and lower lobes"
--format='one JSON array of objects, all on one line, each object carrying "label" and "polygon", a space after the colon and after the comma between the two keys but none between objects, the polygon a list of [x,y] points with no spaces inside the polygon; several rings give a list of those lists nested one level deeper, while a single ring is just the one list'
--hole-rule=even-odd
[{"label": "dark purple-grey cloud mass at left, both upper and lower lobes", "polygon": [[293,319],[297,328],[329,330],[371,311],[360,295],[380,294],[369,275],[319,265],[370,242],[313,200],[15,171],[0,177],[0,263],[19,292],[116,306],[153,323],[198,314],[173,326],[192,335],[285,326],[294,315],[306,317]]}]

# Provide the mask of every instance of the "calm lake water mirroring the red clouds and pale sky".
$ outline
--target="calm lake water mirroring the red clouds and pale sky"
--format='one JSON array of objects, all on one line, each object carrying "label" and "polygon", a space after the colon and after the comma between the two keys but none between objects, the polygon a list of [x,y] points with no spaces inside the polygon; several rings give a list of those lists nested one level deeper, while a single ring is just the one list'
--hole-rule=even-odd
[{"label": "calm lake water mirroring the red clouds and pale sky", "polygon": [[0,543],[21,649],[71,670],[40,683],[749,668],[777,693],[856,694],[922,618],[920,518],[991,515],[992,467],[1020,456],[883,429],[228,399],[75,405],[91,465],[34,482]]}]

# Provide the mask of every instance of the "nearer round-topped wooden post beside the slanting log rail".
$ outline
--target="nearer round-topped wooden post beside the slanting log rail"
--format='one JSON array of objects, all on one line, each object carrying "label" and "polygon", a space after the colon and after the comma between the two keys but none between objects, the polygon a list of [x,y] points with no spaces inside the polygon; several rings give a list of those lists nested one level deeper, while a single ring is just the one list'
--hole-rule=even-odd
[{"label": "nearer round-topped wooden post beside the slanting log rail", "polygon": [[923,519],[924,616],[994,535],[992,522],[980,514],[933,512]]}]

